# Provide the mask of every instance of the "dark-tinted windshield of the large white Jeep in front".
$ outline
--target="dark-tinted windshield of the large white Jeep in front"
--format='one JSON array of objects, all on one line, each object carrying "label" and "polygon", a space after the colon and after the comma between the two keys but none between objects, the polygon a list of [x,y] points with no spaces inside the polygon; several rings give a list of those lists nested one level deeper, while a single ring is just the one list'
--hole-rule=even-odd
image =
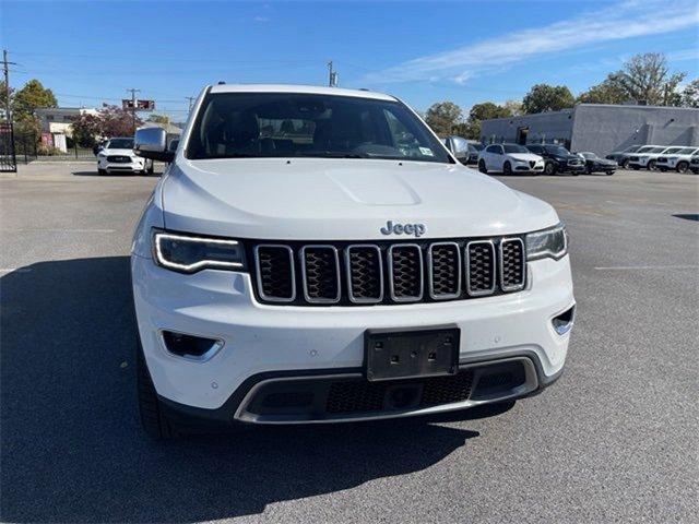
[{"label": "dark-tinted windshield of the large white Jeep in front", "polygon": [[382,158],[451,164],[403,104],[303,93],[209,94],[187,157]]}]

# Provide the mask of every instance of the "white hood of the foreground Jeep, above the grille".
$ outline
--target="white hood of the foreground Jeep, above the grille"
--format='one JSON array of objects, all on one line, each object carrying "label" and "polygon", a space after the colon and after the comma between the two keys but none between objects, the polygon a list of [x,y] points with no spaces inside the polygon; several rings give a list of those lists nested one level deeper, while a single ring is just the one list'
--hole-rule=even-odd
[{"label": "white hood of the foreground Jeep, above the grille", "polygon": [[[275,240],[509,235],[555,225],[547,203],[461,165],[375,159],[178,159],[163,181],[171,230]],[[408,239],[406,236],[395,238]]]}]

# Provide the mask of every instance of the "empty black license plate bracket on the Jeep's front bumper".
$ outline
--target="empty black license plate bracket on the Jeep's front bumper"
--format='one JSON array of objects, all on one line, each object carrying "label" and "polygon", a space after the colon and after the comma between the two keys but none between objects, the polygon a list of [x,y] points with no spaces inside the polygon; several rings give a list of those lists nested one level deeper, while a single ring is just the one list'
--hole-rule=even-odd
[{"label": "empty black license plate bracket on the Jeep's front bumper", "polygon": [[367,330],[365,377],[369,381],[455,374],[461,330],[454,326],[406,331]]}]

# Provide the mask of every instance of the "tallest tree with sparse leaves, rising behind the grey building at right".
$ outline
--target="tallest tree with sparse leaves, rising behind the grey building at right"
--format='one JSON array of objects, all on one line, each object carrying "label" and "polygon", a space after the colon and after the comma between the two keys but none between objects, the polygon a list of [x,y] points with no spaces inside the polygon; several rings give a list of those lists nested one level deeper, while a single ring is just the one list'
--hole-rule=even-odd
[{"label": "tallest tree with sparse leaves, rising behind the grey building at right", "polygon": [[676,106],[682,103],[677,87],[687,73],[671,73],[662,52],[636,55],[624,68],[607,76],[606,82],[623,90],[629,99],[651,106]]}]

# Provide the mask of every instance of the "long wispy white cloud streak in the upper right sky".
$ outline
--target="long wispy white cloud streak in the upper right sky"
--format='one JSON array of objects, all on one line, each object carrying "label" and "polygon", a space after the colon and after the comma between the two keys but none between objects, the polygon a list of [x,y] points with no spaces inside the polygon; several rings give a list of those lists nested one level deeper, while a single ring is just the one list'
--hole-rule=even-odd
[{"label": "long wispy white cloud streak in the upper right sky", "polygon": [[513,66],[542,53],[578,51],[606,41],[671,33],[697,24],[699,9],[695,0],[626,0],[547,26],[532,27],[408,60],[370,73],[365,82],[449,79],[463,83],[477,73]]}]

